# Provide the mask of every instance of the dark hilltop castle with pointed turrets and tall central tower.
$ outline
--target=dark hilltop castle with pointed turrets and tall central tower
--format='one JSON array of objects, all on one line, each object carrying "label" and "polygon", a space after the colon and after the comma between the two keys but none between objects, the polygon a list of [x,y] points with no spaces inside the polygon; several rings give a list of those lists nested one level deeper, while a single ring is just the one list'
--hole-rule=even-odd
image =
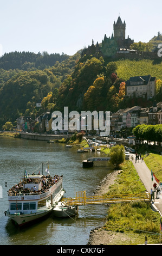
[{"label": "dark hilltop castle with pointed turrets and tall central tower", "polygon": [[117,59],[153,59],[160,60],[158,57],[157,51],[154,50],[152,52],[139,52],[135,50],[130,50],[131,44],[133,44],[134,40],[127,36],[126,38],[126,23],[125,21],[122,23],[120,16],[116,23],[114,22],[114,33],[112,36],[107,37],[106,34],[99,44],[98,42],[94,45],[94,41],[92,40],[92,45],[85,47],[81,53],[81,57],[88,57],[93,55],[94,57],[108,57],[110,60]]}]

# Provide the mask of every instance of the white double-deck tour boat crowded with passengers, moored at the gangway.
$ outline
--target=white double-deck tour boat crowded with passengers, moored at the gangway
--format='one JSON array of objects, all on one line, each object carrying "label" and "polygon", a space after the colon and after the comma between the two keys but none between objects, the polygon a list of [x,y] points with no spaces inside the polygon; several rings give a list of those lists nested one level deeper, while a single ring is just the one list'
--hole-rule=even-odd
[{"label": "white double-deck tour boat crowded with passengers, moored at the gangway", "polygon": [[[42,168],[43,170],[43,168]],[[22,181],[8,191],[9,209],[5,215],[18,225],[36,221],[50,214],[53,205],[59,202],[64,194],[62,176],[47,174],[29,175],[25,171]]]}]

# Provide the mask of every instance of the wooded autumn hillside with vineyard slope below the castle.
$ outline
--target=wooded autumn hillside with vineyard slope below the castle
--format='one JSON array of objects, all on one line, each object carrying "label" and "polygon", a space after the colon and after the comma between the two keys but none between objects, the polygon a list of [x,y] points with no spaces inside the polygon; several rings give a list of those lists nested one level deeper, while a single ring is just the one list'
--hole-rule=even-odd
[{"label": "wooded autumn hillside with vineyard slope below the castle", "polygon": [[[6,121],[14,122],[20,115],[36,117],[45,111],[63,111],[64,106],[68,106],[69,111],[79,112],[115,112],[119,108],[134,105],[152,106],[152,102],[146,99],[125,97],[125,81],[131,76],[150,74],[157,77],[157,97],[152,101],[161,101],[161,62],[155,63],[150,59],[119,59],[108,62],[104,56],[96,58],[90,55],[81,58],[80,52],[77,52],[74,56],[63,54],[60,56],[64,58],[62,61],[47,64],[45,60],[50,59],[50,54],[37,58],[36,55],[29,54],[30,58],[23,59],[25,53],[16,52],[15,55],[4,54],[0,59],[0,66],[3,66],[0,69],[0,127]],[[38,58],[42,58],[42,65],[36,64]],[[23,61],[18,64],[20,59]],[[10,60],[12,65],[8,63]],[[9,65],[12,69],[9,69]],[[43,66],[46,68],[41,68]],[[37,108],[36,103],[40,100],[42,108]]]}]

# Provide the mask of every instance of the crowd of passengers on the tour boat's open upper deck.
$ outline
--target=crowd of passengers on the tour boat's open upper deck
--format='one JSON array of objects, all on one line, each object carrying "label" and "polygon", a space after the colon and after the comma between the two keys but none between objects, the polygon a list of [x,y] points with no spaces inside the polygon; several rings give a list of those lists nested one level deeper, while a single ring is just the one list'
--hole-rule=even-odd
[{"label": "crowd of passengers on the tour boat's open upper deck", "polygon": [[[34,175],[34,174],[33,174]],[[20,181],[18,184],[14,185],[12,188],[9,189],[8,194],[9,196],[16,196],[17,194],[41,194],[44,192],[47,192],[50,187],[52,187],[57,181],[61,179],[62,175],[55,175],[54,178],[52,178],[50,175],[42,177],[42,188],[41,190],[36,190],[36,186],[33,186],[31,188],[26,187],[24,188],[24,182],[25,184],[34,184],[34,181],[32,178],[28,178],[25,181]],[[35,181],[38,183],[37,181]]]}]

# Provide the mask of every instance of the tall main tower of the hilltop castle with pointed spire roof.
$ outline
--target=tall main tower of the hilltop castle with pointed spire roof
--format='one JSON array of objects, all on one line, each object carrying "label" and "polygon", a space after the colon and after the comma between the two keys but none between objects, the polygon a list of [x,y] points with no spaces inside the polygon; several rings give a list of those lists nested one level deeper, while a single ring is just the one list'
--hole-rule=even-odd
[{"label": "tall main tower of the hilltop castle with pointed spire roof", "polygon": [[120,16],[118,17],[117,22],[114,21],[114,39],[117,42],[118,46],[124,46],[126,36],[126,23],[122,23]]}]

